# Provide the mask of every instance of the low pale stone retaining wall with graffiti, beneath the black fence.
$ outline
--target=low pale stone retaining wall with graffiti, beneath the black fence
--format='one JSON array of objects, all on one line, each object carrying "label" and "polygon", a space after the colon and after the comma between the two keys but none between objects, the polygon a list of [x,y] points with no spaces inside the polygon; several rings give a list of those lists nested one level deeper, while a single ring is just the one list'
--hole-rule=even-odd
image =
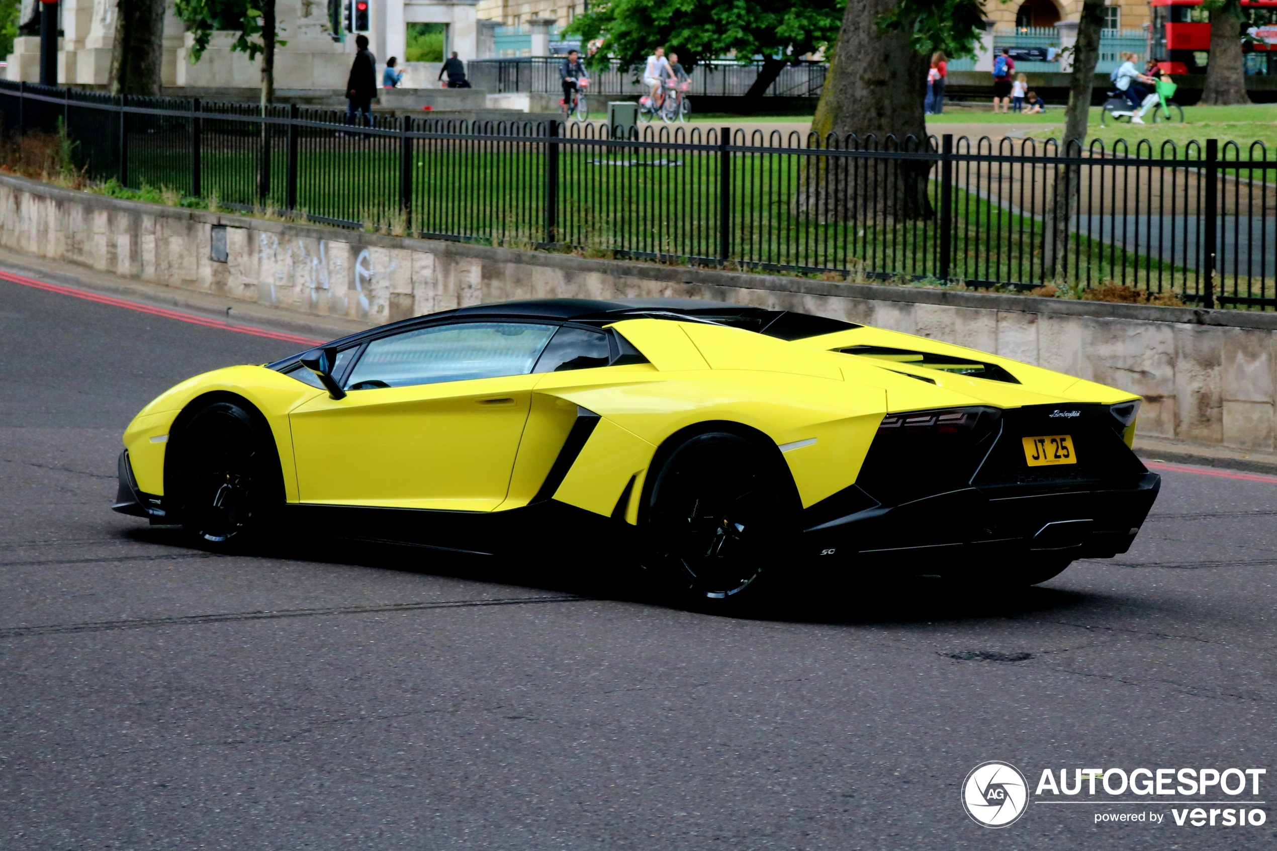
[{"label": "low pale stone retaining wall with graffiti, beneath the black fence", "polygon": [[123,202],[10,176],[0,176],[0,244],[9,249],[156,286],[369,323],[545,296],[693,296],[801,310],[1128,388],[1145,399],[1139,430],[1148,436],[1277,449],[1272,313],[596,260]]}]

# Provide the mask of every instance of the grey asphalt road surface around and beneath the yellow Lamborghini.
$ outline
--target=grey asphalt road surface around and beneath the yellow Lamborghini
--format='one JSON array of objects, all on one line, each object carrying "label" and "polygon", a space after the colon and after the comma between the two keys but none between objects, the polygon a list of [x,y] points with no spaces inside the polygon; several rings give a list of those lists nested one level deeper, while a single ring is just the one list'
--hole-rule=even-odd
[{"label": "grey asphalt road surface around and beneath the yellow Lamborghini", "polygon": [[[1128,555],[1022,593],[820,583],[757,619],[549,531],[217,558],[109,509],[139,407],[296,348],[0,282],[0,848],[1272,847],[1277,478],[1167,471]],[[991,759],[1266,768],[1267,822],[1126,794],[994,831],[959,800]],[[1166,817],[1094,824],[1124,811]]]}]

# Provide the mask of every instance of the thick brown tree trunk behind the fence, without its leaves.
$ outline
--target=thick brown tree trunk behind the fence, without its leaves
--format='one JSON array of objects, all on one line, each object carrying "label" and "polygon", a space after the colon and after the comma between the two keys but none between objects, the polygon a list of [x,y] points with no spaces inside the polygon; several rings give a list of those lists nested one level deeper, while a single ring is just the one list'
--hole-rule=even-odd
[{"label": "thick brown tree trunk behind the fence, without its leaves", "polygon": [[[848,0],[834,60],[812,120],[815,147],[923,151],[927,57],[907,28],[879,32],[895,0]],[[854,138],[849,138],[854,134]],[[796,216],[881,223],[931,218],[931,162],[811,157],[794,198]]]}]

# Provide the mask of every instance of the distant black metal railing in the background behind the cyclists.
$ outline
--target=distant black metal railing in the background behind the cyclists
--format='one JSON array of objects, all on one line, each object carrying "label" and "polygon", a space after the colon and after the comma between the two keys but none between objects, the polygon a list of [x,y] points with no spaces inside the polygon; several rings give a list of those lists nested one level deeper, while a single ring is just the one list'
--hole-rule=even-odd
[{"label": "distant black metal railing in the background behind the cyclists", "polygon": [[[531,92],[562,93],[559,65],[562,59],[476,59],[466,63],[470,84],[489,93]],[[691,97],[741,97],[750,91],[762,64],[705,63],[690,75]],[[822,63],[785,65],[780,75],[764,91],[764,97],[819,98],[825,85]],[[647,93],[642,84],[642,68],[613,60],[605,70],[590,71],[590,93],[604,97],[638,97]]]}]

